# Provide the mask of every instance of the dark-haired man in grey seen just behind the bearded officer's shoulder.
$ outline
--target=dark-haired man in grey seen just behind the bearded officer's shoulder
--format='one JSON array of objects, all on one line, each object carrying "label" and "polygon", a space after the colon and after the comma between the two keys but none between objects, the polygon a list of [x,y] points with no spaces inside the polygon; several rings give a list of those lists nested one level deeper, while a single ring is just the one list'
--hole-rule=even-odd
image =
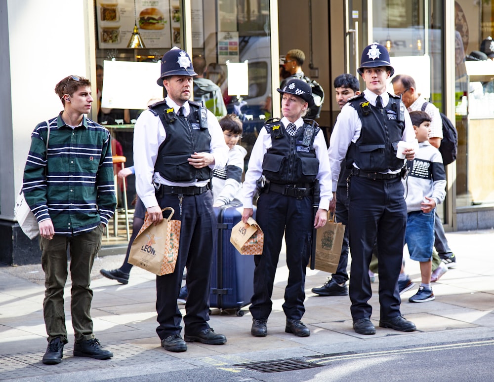
[{"label": "dark-haired man in grey seen just behind the bearded officer's shoulder", "polygon": [[203,56],[194,56],[192,66],[197,71],[194,77],[194,101],[204,101],[206,108],[216,116],[226,115],[226,106],[221,94],[221,88],[210,79],[204,77],[206,73],[206,59]]}]

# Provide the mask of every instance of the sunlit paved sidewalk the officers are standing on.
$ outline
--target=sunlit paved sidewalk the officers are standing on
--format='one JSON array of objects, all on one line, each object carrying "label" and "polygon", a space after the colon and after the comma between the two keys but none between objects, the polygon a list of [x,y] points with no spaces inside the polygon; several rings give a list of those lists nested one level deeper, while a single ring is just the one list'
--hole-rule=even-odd
[{"label": "sunlit paved sidewalk the officers are standing on", "polygon": [[[47,345],[42,316],[44,275],[41,266],[0,267],[0,380],[82,382],[148,376],[148,379],[141,380],[151,381],[153,374],[169,372],[189,376],[183,380],[210,381],[218,377],[213,379],[212,375],[202,375],[201,371],[215,370],[222,373],[222,381],[234,381],[239,380],[240,374],[239,368],[232,365],[492,338],[494,230],[452,232],[447,233],[447,237],[458,264],[433,284],[435,301],[423,304],[408,302],[418,289],[420,272],[418,263],[409,260],[408,254],[405,256],[407,271],[417,285],[402,295],[401,310],[416,324],[415,332],[378,328],[376,282],[372,284],[371,304],[377,333],[374,336],[356,334],[352,330],[348,296],[314,295],[311,289],[324,284],[328,274],[308,270],[303,322],[311,329],[311,336],[298,338],[286,334],[282,304],[288,270],[281,260],[267,337],[250,335],[251,316],[247,306],[243,317],[236,316],[235,312],[213,309],[209,323],[217,333],[227,336],[227,344],[189,343],[188,351],[183,353],[167,352],[160,347],[155,332],[154,275],[134,267],[129,284],[121,285],[101,276],[99,269],[119,267],[123,255],[98,258],[91,283],[94,332],[115,356],[107,361],[72,356],[74,337],[70,323],[69,285],[65,290],[69,344],[64,348],[62,363],[52,366],[41,363]],[[192,370],[197,379],[190,379]],[[289,377],[278,375],[278,378]]]}]

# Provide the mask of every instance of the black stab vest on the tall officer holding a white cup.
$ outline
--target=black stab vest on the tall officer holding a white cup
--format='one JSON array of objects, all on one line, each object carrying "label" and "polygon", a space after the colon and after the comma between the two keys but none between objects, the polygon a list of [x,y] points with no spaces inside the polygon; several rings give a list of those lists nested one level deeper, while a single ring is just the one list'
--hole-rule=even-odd
[{"label": "black stab vest on the tall officer holding a white cup", "polygon": [[362,130],[357,142],[350,144],[347,166],[355,162],[363,171],[384,173],[402,168],[403,159],[396,157],[398,142],[405,130],[405,121],[399,120],[400,97],[390,94],[383,109],[372,106],[363,93],[348,103],[359,114]]}]

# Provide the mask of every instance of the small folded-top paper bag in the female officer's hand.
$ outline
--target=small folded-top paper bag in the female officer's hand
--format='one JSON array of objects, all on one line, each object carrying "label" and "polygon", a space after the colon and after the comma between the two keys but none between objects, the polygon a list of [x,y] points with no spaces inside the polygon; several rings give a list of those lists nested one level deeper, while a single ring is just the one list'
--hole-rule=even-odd
[{"label": "small folded-top paper bag in the female officer's hand", "polygon": [[241,220],[232,228],[230,243],[242,255],[262,255],[264,233],[254,219],[248,218],[247,224]]}]

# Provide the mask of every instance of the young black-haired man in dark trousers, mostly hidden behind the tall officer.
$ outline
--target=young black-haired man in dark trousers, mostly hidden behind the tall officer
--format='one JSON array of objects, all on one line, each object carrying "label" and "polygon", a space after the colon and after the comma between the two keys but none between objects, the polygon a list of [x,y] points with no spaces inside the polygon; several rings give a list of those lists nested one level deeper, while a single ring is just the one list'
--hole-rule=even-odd
[{"label": "young black-haired man in dark trousers, mostly hidden behind the tall officer", "polygon": [[[349,98],[360,94],[360,84],[356,76],[351,74],[342,74],[334,78],[334,90],[336,102],[340,110],[346,105]],[[341,161],[341,172],[336,189],[336,221],[344,224],[345,235],[343,237],[343,246],[341,247],[341,256],[336,269],[336,273],[328,278],[326,284],[320,288],[312,288],[312,293],[319,296],[346,296],[348,288],[348,196],[346,190],[346,180],[350,175],[350,169],[346,168],[346,159]]]}]

